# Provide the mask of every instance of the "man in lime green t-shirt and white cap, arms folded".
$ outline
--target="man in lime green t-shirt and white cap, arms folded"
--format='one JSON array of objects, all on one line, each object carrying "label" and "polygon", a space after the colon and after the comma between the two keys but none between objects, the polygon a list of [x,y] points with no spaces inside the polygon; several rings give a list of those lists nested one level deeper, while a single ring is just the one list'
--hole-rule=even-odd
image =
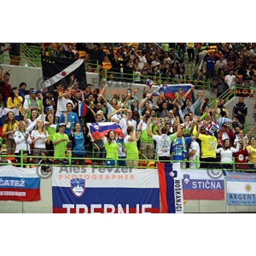
[{"label": "man in lime green t-shirt and white cap, arms folded", "polygon": [[[69,139],[67,134],[64,134],[66,125],[64,123],[59,124],[59,132],[55,133],[52,138],[52,144],[54,145],[54,157],[65,158],[65,151],[67,150],[67,144]],[[60,160],[57,159],[56,162]]]}]

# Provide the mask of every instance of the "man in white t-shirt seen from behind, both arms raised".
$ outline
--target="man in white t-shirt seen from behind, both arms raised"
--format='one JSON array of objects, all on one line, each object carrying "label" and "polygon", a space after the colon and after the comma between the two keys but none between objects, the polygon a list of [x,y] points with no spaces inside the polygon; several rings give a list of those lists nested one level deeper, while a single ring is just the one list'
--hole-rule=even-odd
[{"label": "man in white t-shirt seen from behind, both arms raised", "polygon": [[147,122],[147,135],[157,142],[158,159],[162,161],[169,161],[172,141],[177,138],[177,133],[180,131],[180,120],[177,117],[177,132],[169,136],[167,135],[167,128],[165,126],[161,128],[161,135],[153,135],[149,129],[150,122],[151,118],[149,118]]}]

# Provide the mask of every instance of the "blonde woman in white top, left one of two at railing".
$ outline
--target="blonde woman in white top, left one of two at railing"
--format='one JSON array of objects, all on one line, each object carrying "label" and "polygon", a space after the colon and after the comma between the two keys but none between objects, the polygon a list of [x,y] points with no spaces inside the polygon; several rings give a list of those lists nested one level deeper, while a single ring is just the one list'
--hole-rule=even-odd
[{"label": "blonde woman in white top, left one of two at railing", "polygon": [[32,143],[31,138],[29,136],[29,132],[26,131],[26,123],[24,121],[20,121],[19,125],[15,128],[14,140],[16,143],[15,155],[16,162],[20,163],[20,150],[23,150],[24,154],[30,154],[29,145]]}]

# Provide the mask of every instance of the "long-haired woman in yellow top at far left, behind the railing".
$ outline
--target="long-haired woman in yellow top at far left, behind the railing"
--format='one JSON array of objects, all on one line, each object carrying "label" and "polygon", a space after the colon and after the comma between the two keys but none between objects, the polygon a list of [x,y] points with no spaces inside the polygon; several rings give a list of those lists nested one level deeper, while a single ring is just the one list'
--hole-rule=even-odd
[{"label": "long-haired woman in yellow top at far left, behind the railing", "polygon": [[12,111],[8,112],[4,120],[2,136],[6,138],[5,143],[7,146],[8,154],[13,155],[15,152],[14,133],[19,122],[15,119]]}]

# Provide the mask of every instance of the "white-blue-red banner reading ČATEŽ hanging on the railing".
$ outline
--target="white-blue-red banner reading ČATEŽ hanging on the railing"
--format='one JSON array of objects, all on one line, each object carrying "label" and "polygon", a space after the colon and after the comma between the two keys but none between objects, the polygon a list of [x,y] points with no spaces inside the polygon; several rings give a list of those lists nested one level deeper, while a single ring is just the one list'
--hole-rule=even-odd
[{"label": "white-blue-red banner reading \u010cATE\u017d hanging on the railing", "polygon": [[40,199],[40,177],[36,173],[36,168],[0,166],[0,200],[38,201]]}]

